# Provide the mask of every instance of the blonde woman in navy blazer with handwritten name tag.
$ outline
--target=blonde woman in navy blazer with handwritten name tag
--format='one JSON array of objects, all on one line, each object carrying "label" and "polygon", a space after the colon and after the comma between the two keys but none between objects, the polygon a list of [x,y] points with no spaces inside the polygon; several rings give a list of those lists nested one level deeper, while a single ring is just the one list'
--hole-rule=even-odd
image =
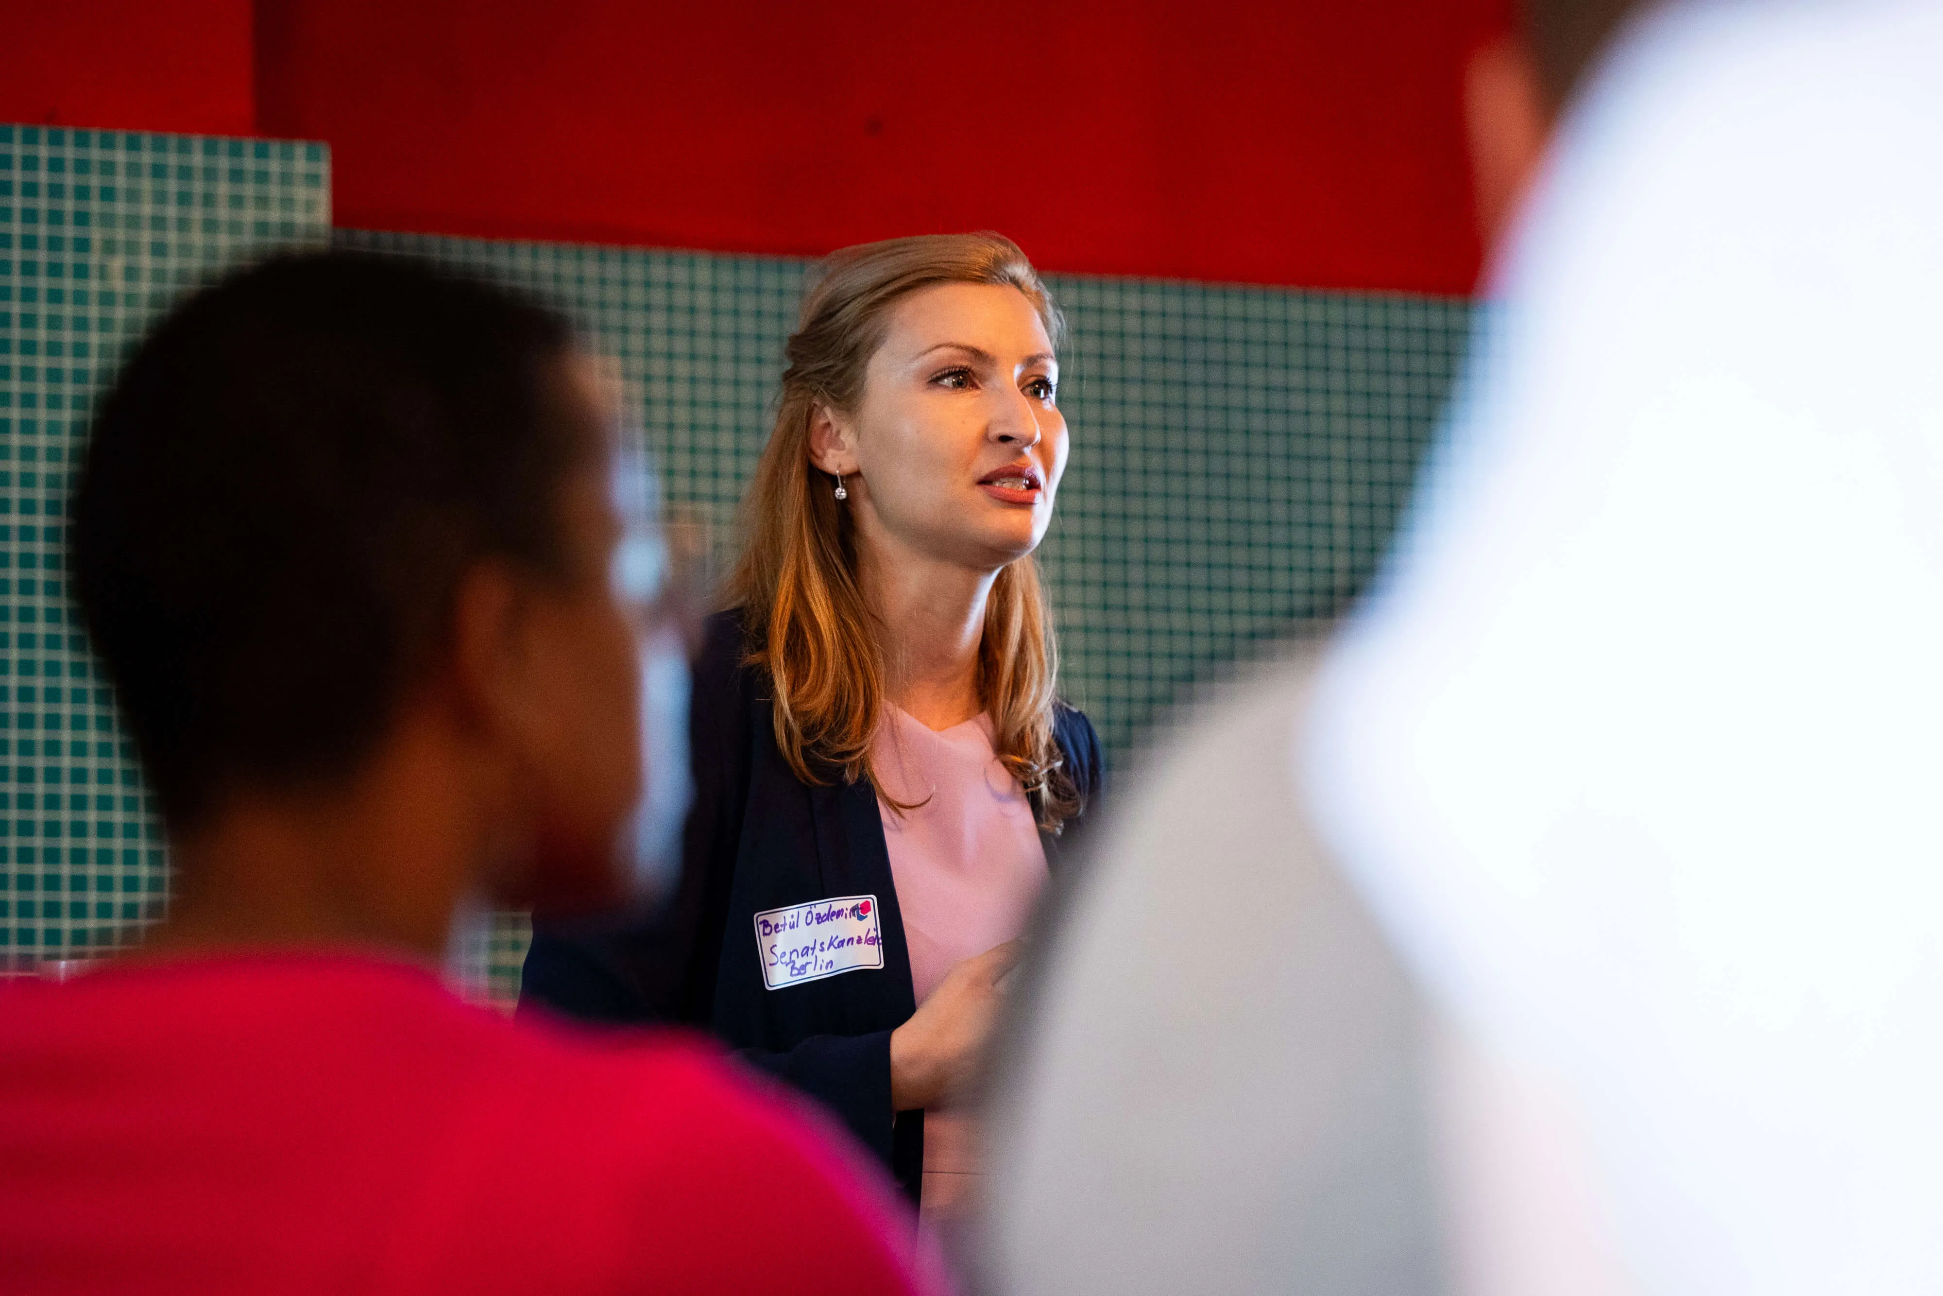
[{"label": "blonde woman in navy blazer with handwritten name tag", "polygon": [[696,665],[680,892],[643,929],[542,929],[527,958],[527,999],[713,1030],[927,1212],[973,1170],[950,1100],[1098,791],[1032,558],[1067,462],[1059,334],[997,235],[826,262]]}]

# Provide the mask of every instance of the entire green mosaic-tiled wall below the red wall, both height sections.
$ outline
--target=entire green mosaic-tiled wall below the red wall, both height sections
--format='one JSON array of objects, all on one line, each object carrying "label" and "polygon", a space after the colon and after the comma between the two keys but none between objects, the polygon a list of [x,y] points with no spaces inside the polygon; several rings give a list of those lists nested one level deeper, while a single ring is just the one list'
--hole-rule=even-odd
[{"label": "entire green mosaic-tiled wall below the red wall, both height sections", "polygon": [[[414,253],[567,307],[622,361],[668,497],[733,548],[804,262],[330,231],[323,146],[0,126],[0,960],[87,958],[165,859],[66,604],[62,513],[117,356],[268,247]],[[1065,686],[1123,758],[1168,698],[1368,575],[1467,330],[1455,301],[1055,278],[1073,468],[1041,554]],[[525,935],[468,931],[509,997]]]}]

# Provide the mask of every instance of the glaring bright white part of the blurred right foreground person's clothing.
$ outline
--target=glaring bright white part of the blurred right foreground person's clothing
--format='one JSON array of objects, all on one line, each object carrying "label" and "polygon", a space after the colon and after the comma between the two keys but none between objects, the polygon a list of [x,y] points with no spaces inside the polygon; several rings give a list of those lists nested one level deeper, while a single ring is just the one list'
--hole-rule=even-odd
[{"label": "glaring bright white part of the blurred right foreground person's clothing", "polygon": [[1943,1290],[1943,14],[1667,16],[1496,295],[1308,802],[1634,1290]]}]

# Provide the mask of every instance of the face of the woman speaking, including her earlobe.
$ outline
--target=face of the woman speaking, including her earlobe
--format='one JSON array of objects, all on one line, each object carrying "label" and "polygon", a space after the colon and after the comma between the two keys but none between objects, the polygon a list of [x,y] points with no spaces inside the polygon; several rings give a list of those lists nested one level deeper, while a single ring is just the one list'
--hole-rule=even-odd
[{"label": "face of the woman speaking, including her earlobe", "polygon": [[1059,363],[1032,301],[940,284],[892,307],[851,416],[812,429],[865,542],[995,571],[1045,534],[1067,466]]}]

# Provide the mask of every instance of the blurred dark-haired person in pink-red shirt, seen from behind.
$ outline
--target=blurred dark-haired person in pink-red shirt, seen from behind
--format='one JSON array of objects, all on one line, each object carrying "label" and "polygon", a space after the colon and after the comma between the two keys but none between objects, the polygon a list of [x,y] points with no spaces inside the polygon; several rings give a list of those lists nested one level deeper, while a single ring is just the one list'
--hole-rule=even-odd
[{"label": "blurred dark-haired person in pink-red shirt, seen from behind", "polygon": [[439,983],[464,904],[624,880],[616,441],[558,317],[406,262],[270,260],[130,359],[72,563],[179,890],[0,989],[0,1288],[925,1286],[888,1189],[709,1049]]}]

